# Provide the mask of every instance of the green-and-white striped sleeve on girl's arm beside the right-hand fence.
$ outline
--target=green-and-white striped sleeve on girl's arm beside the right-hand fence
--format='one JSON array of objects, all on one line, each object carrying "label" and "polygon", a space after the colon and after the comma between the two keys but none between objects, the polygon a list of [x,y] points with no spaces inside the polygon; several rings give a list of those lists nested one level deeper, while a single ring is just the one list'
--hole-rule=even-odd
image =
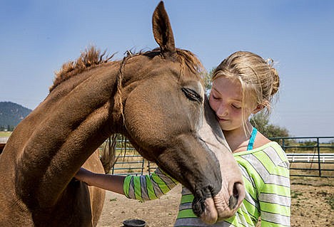
[{"label": "green-and-white striped sleeve on girl's arm beside the right-hand fence", "polygon": [[290,179],[287,162],[268,168],[258,194],[261,226],[290,226]]}]

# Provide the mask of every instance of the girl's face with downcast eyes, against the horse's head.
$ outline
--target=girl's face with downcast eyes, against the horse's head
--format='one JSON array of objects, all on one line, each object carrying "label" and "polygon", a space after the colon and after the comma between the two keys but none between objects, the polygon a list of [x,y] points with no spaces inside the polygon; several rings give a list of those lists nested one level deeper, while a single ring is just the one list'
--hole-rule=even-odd
[{"label": "girl's face with downcast eyes, against the horse's head", "polygon": [[[218,77],[213,80],[209,103],[224,131],[236,130],[243,127],[243,96],[239,80]],[[251,112],[244,110],[248,119]]]}]

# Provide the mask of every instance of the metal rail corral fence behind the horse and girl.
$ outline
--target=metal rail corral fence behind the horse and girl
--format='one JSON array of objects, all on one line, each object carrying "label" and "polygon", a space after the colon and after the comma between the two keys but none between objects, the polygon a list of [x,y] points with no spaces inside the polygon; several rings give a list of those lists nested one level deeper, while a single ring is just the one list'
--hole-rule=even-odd
[{"label": "metal rail corral fence behind the horse and girl", "polygon": [[[290,176],[334,177],[334,137],[273,137],[270,139],[278,142],[287,154],[290,162]],[[118,139],[116,143],[116,156],[117,161],[110,174],[142,175],[151,174],[156,169],[156,164],[143,159],[125,137]]]}]

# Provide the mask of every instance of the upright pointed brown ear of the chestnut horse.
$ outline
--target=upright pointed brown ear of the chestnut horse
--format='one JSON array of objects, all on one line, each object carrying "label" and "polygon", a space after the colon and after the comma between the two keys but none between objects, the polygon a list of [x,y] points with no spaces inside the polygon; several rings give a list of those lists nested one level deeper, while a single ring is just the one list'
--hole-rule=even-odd
[{"label": "upright pointed brown ear of the chestnut horse", "polygon": [[156,6],[152,23],[153,35],[160,46],[161,53],[165,58],[173,58],[176,55],[174,36],[163,1]]}]

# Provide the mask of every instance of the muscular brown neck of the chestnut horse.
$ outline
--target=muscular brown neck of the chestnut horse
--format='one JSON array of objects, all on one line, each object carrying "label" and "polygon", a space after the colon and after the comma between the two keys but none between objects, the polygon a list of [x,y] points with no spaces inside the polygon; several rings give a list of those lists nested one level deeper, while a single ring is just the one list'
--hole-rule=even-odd
[{"label": "muscular brown neck of the chestnut horse", "polygon": [[[25,133],[14,133],[14,141],[23,144],[18,164],[21,193],[38,194],[39,206],[54,204],[79,167],[110,136],[111,127],[117,128],[111,112],[118,68],[85,73],[91,75],[81,83],[59,85],[21,122],[18,131]],[[69,91],[71,86],[75,88]]]}]

